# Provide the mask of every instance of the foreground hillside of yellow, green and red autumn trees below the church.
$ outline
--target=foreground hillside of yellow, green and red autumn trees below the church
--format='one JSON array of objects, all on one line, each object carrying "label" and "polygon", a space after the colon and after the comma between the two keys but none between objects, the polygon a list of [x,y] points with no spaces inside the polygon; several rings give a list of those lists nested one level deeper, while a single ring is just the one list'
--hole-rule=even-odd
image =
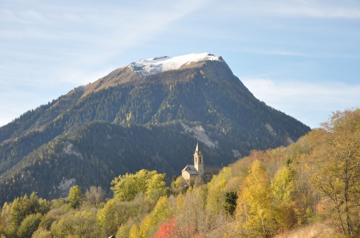
[{"label": "foreground hillside of yellow, green and red autumn trees below the church", "polygon": [[[96,123],[94,123],[95,125]],[[32,193],[1,210],[4,238],[359,237],[360,109],[337,112],[295,144],[253,150],[209,183],[141,170],[67,200]]]}]

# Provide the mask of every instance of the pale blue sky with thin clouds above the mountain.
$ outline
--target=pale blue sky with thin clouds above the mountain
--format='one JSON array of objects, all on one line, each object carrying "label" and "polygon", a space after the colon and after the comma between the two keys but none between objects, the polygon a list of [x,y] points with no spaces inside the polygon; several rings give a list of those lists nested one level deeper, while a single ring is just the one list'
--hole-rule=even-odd
[{"label": "pale blue sky with thin clouds above the mountain", "polygon": [[209,52],[318,127],[360,107],[360,1],[0,2],[0,125],[140,59]]}]

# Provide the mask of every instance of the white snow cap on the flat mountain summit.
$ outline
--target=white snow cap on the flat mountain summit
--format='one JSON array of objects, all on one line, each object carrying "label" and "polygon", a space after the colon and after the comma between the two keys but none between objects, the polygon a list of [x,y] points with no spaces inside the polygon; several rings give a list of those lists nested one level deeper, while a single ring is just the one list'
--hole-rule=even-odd
[{"label": "white snow cap on the flat mountain summit", "polygon": [[139,76],[146,76],[167,70],[178,69],[181,65],[189,65],[191,62],[198,62],[202,60],[223,61],[221,56],[214,56],[209,53],[193,53],[177,57],[162,56],[151,59],[142,59],[139,62],[131,63],[128,68],[137,72]]}]

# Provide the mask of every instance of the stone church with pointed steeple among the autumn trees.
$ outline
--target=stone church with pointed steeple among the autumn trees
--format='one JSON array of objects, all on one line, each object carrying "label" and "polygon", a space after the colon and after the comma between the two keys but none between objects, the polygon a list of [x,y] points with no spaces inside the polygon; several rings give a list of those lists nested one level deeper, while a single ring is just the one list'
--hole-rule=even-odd
[{"label": "stone church with pointed steeple among the autumn trees", "polygon": [[210,181],[213,175],[220,173],[223,166],[209,166],[204,165],[204,155],[200,150],[199,142],[196,145],[194,153],[194,165],[187,165],[181,170],[181,176],[185,180],[205,178],[206,181]]}]

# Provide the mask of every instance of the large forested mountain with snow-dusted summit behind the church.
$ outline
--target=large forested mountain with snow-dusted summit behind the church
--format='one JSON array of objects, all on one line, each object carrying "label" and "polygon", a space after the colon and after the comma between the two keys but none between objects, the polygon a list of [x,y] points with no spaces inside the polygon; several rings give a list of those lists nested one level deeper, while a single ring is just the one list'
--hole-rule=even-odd
[{"label": "large forested mountain with snow-dusted summit behind the church", "polygon": [[256,99],[220,56],[142,59],[0,127],[0,203],[66,196],[73,184],[108,189],[143,168],[171,178],[196,141],[205,164],[225,166],[308,131]]}]

